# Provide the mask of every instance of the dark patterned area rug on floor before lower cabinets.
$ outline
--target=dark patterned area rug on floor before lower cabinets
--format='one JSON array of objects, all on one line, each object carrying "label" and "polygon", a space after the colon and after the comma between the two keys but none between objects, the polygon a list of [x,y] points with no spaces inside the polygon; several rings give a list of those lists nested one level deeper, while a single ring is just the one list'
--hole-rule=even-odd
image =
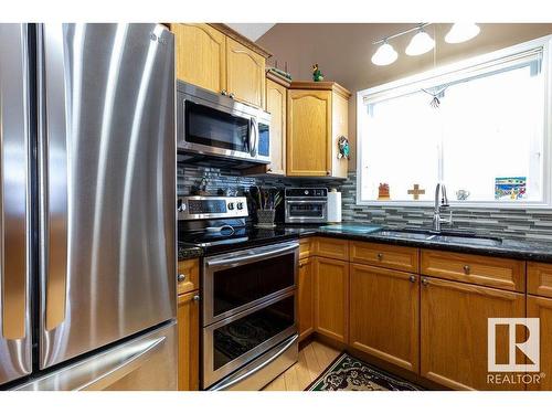
[{"label": "dark patterned area rug on floor before lower cabinets", "polygon": [[421,391],[422,388],[341,353],[305,391]]}]

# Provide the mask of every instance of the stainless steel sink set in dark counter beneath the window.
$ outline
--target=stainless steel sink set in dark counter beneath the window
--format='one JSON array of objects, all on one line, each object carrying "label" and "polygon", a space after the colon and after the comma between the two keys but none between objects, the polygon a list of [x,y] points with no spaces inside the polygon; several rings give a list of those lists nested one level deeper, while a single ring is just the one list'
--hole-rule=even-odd
[{"label": "stainless steel sink set in dark counter beneath the window", "polygon": [[486,237],[471,231],[442,230],[439,232],[431,229],[404,227],[397,230],[382,230],[376,234],[385,237],[434,241],[455,244],[476,244],[479,246],[499,246],[502,240],[498,237]]}]

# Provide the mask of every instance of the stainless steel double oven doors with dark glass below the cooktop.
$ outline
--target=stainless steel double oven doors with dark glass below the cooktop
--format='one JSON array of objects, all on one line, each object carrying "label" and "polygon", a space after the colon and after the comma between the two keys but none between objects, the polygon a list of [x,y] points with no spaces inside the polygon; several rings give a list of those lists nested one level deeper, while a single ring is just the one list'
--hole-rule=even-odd
[{"label": "stainless steel double oven doors with dark glass below the cooktop", "polygon": [[202,385],[258,390],[297,361],[297,241],[203,261]]}]

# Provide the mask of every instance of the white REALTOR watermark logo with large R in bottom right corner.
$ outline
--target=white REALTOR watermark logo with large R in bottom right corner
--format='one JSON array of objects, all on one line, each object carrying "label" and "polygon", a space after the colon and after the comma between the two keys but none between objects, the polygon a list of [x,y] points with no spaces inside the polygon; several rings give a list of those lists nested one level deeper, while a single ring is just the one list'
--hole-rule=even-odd
[{"label": "white REALTOR watermark logo with large R in bottom right corner", "polygon": [[[527,336],[518,342],[518,327],[524,327]],[[497,362],[497,330],[508,332],[507,361]],[[487,325],[487,383],[516,384],[540,383],[544,373],[540,372],[540,319],[539,318],[488,318]],[[521,351],[522,361],[516,357]],[[495,374],[491,374],[495,372]],[[498,373],[497,373],[498,372]]]}]

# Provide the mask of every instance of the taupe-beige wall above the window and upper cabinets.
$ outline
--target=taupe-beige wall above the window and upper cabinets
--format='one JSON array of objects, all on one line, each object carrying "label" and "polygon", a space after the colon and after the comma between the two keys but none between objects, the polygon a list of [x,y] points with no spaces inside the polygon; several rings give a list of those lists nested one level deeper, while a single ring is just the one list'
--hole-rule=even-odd
[{"label": "taupe-beige wall above the window and upper cabinets", "polygon": [[362,23],[319,24],[279,23],[263,35],[257,43],[269,50],[278,67],[287,68],[294,79],[311,79],[310,66],[318,63],[325,81],[336,81],[353,93],[349,105],[349,130],[352,144],[350,170],[355,169],[357,103],[355,93],[407,75],[507,47],[531,39],[552,34],[552,23],[545,24],[479,24],[481,32],[468,42],[447,44],[444,36],[450,24],[438,23],[427,28],[437,41],[435,53],[407,56],[404,49],[412,35],[404,35],[391,43],[399,52],[399,59],[389,66],[375,66],[370,62],[378,46],[372,42],[385,35],[414,26],[415,23]]}]

